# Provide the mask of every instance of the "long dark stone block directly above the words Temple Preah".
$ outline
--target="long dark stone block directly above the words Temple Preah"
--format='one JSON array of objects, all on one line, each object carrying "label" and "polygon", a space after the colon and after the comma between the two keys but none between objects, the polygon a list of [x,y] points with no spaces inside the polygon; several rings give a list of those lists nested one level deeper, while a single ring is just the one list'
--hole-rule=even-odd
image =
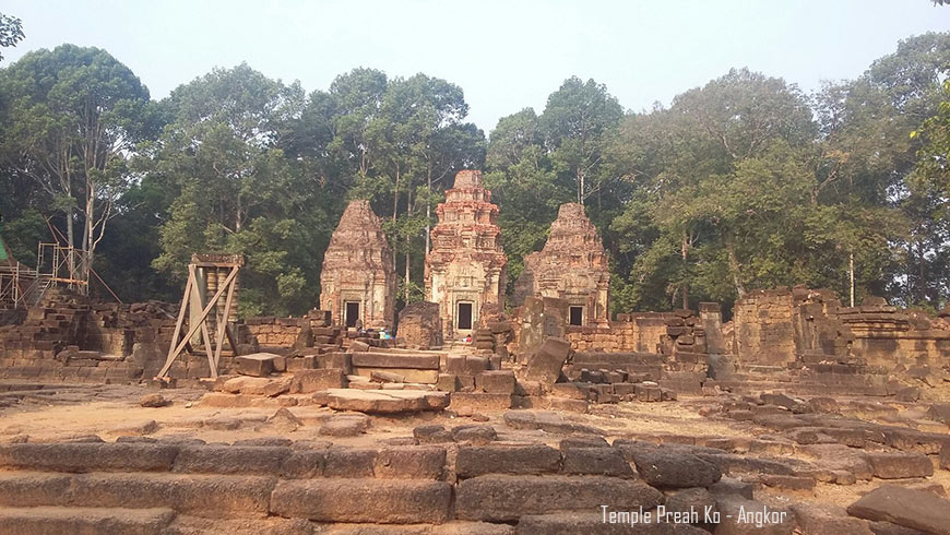
[{"label": "long dark stone block directly above the words Temple Preah", "polygon": [[455,514],[462,520],[511,522],[523,515],[599,511],[605,497],[618,510],[650,510],[663,494],[636,479],[602,476],[485,475],[461,482]]}]

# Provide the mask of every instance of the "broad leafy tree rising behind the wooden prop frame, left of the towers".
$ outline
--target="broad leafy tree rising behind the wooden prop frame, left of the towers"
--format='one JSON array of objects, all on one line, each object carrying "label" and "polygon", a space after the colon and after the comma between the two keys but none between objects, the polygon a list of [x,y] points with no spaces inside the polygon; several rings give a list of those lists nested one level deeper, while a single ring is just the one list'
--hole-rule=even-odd
[{"label": "broad leafy tree rising behind the wooden prop frame, left of the towers", "polygon": [[240,64],[162,103],[171,121],[141,162],[151,180],[174,190],[155,269],[180,276],[191,253],[241,253],[242,314],[299,313],[317,301],[330,234],[321,185],[280,148],[304,102],[298,84]]}]

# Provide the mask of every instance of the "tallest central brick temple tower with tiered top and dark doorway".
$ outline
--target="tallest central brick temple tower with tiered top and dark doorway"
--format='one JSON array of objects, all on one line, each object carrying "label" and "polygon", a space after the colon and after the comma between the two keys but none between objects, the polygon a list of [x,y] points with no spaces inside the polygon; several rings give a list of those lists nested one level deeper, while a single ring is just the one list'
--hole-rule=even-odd
[{"label": "tallest central brick temple tower with tiered top and dark doorway", "polygon": [[426,255],[427,300],[438,302],[447,338],[475,329],[486,305],[502,305],[508,259],[496,223],[498,206],[482,186],[482,173],[455,175],[436,209],[432,249]]}]

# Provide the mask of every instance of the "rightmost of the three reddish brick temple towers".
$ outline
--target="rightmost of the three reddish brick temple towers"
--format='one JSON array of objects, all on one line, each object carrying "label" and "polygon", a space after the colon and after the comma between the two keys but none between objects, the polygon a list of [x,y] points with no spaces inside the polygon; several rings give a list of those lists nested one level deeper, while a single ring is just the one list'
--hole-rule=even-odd
[{"label": "rightmost of the three reddish brick temple towers", "polygon": [[562,204],[544,249],[524,258],[514,302],[530,296],[568,301],[568,324],[607,326],[610,272],[597,229],[578,203]]}]

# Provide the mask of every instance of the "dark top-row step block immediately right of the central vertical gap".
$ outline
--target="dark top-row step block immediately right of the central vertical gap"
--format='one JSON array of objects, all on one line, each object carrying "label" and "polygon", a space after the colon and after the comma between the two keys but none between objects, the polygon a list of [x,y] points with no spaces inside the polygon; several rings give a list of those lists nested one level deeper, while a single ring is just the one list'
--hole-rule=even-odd
[{"label": "dark top-row step block immediately right of the central vertical gap", "polygon": [[561,454],[543,444],[461,447],[455,456],[459,477],[484,474],[547,474],[560,468]]}]

